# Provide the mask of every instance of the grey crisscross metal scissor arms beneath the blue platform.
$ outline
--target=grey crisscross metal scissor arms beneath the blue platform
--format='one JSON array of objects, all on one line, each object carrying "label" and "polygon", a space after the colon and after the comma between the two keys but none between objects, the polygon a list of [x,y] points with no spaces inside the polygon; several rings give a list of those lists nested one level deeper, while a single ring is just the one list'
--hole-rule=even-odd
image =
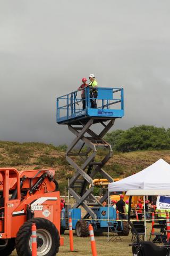
[{"label": "grey crisscross metal scissor arms beneath the blue platform", "polygon": [[[91,209],[91,206],[102,206],[108,197],[108,193],[99,200],[94,196],[93,179],[95,175],[99,174],[109,182],[113,182],[112,177],[103,170],[104,165],[113,154],[111,145],[103,137],[114,125],[114,122],[115,119],[111,119],[105,124],[105,120],[102,120],[100,124],[103,130],[99,134],[91,130],[92,126],[95,125],[95,118],[90,118],[87,123],[80,120],[76,125],[68,125],[69,130],[75,135],[75,139],[67,148],[66,160],[76,170],[70,180],[69,193],[76,200],[73,207],[82,206],[87,211],[84,218],[97,219],[97,215]],[[80,142],[82,143],[81,146]],[[95,161],[99,148],[106,149],[106,155],[100,162]]]}]

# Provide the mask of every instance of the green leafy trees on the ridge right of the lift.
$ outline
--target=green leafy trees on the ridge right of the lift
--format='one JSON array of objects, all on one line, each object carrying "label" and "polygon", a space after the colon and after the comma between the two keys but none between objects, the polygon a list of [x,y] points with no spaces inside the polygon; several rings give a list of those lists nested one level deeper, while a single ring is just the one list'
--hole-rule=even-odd
[{"label": "green leafy trees on the ridge right of the lift", "polygon": [[111,143],[113,150],[120,152],[170,149],[170,128],[139,125],[109,132],[105,140]]}]

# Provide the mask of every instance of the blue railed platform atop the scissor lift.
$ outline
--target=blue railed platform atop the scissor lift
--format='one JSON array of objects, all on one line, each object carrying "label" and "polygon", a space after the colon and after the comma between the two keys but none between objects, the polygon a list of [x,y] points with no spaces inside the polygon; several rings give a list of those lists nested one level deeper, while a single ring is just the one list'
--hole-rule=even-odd
[{"label": "blue railed platform atop the scissor lift", "polygon": [[[124,116],[123,89],[99,87],[97,98],[91,97],[89,87],[86,88],[86,98],[81,98],[81,91],[74,91],[57,98],[57,123],[78,124],[94,118],[94,122],[111,120]],[[97,108],[91,108],[91,101],[96,100]],[[83,101],[86,109],[82,109]]]}]

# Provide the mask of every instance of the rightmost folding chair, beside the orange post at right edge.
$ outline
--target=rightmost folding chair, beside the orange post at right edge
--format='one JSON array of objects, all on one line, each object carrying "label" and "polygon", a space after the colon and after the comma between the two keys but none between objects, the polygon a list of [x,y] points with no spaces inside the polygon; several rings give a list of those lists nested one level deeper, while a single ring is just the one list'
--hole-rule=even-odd
[{"label": "rightmost folding chair, beside the orange post at right edge", "polygon": [[[157,231],[152,231],[152,230],[156,230]],[[163,242],[163,239],[165,239],[165,225],[164,224],[154,224],[152,226],[152,230],[151,230],[151,233],[150,233],[150,237],[149,237],[149,241],[150,241],[150,238],[151,236],[155,236],[154,238],[154,243],[164,243]]]}]

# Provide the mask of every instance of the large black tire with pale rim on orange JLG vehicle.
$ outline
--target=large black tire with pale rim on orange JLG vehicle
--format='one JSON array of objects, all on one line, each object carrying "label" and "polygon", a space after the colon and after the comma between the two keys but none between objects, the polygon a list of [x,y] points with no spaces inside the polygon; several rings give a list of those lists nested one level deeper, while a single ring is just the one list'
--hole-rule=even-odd
[{"label": "large black tire with pale rim on orange JLG vehicle", "polygon": [[18,256],[31,256],[31,226],[37,227],[37,256],[55,256],[59,251],[60,235],[55,225],[44,218],[33,218],[26,221],[16,235]]}]

